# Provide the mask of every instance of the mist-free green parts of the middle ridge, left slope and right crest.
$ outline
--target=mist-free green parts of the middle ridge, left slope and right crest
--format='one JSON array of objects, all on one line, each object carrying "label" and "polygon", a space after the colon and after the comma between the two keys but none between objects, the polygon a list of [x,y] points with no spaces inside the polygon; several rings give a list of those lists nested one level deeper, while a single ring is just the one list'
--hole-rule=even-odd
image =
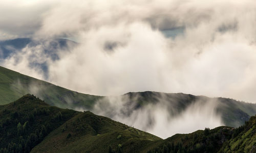
[{"label": "mist-free green parts of the middle ridge, left slope and right crest", "polygon": [[[83,108],[94,111],[94,105],[102,96],[74,92],[45,81],[37,80],[27,75],[0,67],[0,105],[8,104],[24,94],[31,93],[44,99],[51,106],[60,108]],[[143,109],[148,104],[162,103],[172,116],[178,116],[189,106],[196,103],[204,105],[209,101],[216,103],[216,112],[220,114],[227,126],[238,127],[250,116],[256,114],[256,104],[244,103],[229,98],[208,98],[183,93],[160,92],[130,92],[122,95],[125,99],[121,112],[129,116],[137,109]],[[131,107],[132,106],[132,107]],[[111,115],[107,117],[112,117]]]}]

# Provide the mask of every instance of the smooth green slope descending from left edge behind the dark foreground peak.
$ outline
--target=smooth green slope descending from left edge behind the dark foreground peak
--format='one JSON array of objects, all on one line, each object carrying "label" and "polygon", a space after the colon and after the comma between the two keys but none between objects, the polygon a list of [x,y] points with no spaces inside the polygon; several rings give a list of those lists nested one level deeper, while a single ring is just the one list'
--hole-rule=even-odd
[{"label": "smooth green slope descending from left edge behind the dark foreground peak", "polygon": [[49,105],[73,109],[90,109],[94,102],[101,98],[55,86],[0,66],[0,104],[11,103],[27,93],[35,94],[46,100]]}]

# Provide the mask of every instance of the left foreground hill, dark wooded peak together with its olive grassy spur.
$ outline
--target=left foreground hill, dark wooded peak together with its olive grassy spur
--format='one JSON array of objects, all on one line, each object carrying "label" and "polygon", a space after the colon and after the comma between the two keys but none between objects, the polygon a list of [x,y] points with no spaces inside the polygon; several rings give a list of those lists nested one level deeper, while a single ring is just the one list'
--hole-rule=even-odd
[{"label": "left foreground hill, dark wooded peak together with its olive grassy spur", "polygon": [[29,94],[0,106],[0,131],[0,152],[29,152],[34,146],[32,152],[129,151],[161,140],[91,112],[49,106]]}]

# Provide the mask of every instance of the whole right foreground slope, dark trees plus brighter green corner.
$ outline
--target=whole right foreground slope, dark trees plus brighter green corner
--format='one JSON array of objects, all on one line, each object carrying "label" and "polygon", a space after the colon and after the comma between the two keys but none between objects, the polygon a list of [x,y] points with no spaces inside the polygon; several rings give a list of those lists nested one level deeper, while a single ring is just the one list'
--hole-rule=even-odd
[{"label": "whole right foreground slope, dark trees plus brighter green corner", "polygon": [[256,116],[234,129],[220,126],[191,134],[176,134],[148,152],[256,152]]}]

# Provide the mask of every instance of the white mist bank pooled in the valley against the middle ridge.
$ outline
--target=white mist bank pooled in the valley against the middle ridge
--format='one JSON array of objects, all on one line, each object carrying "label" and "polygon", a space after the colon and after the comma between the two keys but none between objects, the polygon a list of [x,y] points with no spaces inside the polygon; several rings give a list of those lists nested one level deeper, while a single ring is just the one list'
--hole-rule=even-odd
[{"label": "white mist bank pooled in the valley against the middle ridge", "polygon": [[219,105],[217,99],[190,101],[183,110],[178,104],[180,99],[175,96],[170,98],[165,94],[154,94],[152,98],[156,100],[138,107],[140,95],[132,98],[129,95],[104,97],[97,101],[92,111],[163,139],[177,133],[224,125],[216,112]]}]

